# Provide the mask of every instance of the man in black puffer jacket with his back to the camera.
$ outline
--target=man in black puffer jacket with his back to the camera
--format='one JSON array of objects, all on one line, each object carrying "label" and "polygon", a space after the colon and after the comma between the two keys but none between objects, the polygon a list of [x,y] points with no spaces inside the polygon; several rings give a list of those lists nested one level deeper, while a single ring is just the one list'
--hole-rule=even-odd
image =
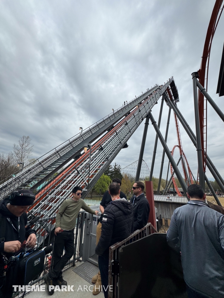
[{"label": "man in black puffer jacket with his back to the camera", "polygon": [[105,298],[108,297],[109,247],[124,240],[134,231],[133,205],[125,198],[120,198],[119,184],[111,183],[109,193],[112,201],[103,212],[102,232],[96,246]]}]

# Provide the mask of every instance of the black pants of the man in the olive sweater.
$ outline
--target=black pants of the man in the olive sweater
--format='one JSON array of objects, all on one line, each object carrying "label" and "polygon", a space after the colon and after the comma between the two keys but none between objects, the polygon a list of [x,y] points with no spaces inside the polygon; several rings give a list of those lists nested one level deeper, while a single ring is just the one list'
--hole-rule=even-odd
[{"label": "black pants of the man in the olive sweater", "polygon": [[[57,278],[62,274],[62,269],[74,254],[74,230],[58,233],[54,238],[53,270],[50,271],[51,278]],[[65,254],[63,250],[65,248]]]}]

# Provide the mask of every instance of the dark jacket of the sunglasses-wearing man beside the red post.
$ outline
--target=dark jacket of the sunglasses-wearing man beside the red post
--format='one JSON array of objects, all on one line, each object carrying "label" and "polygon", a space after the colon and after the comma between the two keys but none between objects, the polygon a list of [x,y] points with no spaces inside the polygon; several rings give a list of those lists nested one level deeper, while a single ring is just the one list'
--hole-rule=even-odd
[{"label": "dark jacket of the sunglasses-wearing man beside the red post", "polygon": [[150,206],[144,193],[137,198],[132,197],[130,202],[134,201],[134,231],[142,229],[148,222]]}]

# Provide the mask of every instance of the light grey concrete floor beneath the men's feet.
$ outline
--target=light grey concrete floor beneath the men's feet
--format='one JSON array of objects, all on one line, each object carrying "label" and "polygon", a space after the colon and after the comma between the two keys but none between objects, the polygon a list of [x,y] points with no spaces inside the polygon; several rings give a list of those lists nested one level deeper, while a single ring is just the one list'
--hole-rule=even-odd
[{"label": "light grey concrete floor beneath the men's feet", "polygon": [[[76,266],[81,265],[84,262],[76,262]],[[70,268],[69,270],[63,272],[63,279],[67,281],[68,285],[73,285],[73,291],[67,291],[67,292],[59,292],[55,291],[53,295],[51,295],[53,298],[103,298],[104,294],[101,292],[97,296],[94,296],[92,294],[93,287],[90,286],[92,284],[88,283],[86,280],[84,280],[81,276],[79,276],[77,273],[73,271],[75,267]],[[85,290],[84,290],[85,286]],[[89,290],[90,286],[90,290]],[[81,290],[82,288],[82,290]],[[28,295],[26,295],[27,298],[42,298],[42,297],[50,297],[47,287],[45,285],[45,292],[29,292]]]}]

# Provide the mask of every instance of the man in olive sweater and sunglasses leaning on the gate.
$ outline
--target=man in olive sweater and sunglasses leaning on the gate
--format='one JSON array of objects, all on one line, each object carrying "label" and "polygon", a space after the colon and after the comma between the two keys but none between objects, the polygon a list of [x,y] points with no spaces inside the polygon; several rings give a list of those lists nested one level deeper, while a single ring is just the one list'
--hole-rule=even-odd
[{"label": "man in olive sweater and sunglasses leaning on the gate", "polygon": [[[56,215],[53,269],[44,277],[47,290],[51,295],[54,290],[49,291],[49,285],[59,285],[59,287],[67,285],[62,277],[62,269],[74,254],[74,228],[80,209],[95,215],[99,212],[91,209],[81,199],[81,187],[74,187],[72,195],[72,198],[62,203]],[[62,256],[64,248],[65,254]]]}]

